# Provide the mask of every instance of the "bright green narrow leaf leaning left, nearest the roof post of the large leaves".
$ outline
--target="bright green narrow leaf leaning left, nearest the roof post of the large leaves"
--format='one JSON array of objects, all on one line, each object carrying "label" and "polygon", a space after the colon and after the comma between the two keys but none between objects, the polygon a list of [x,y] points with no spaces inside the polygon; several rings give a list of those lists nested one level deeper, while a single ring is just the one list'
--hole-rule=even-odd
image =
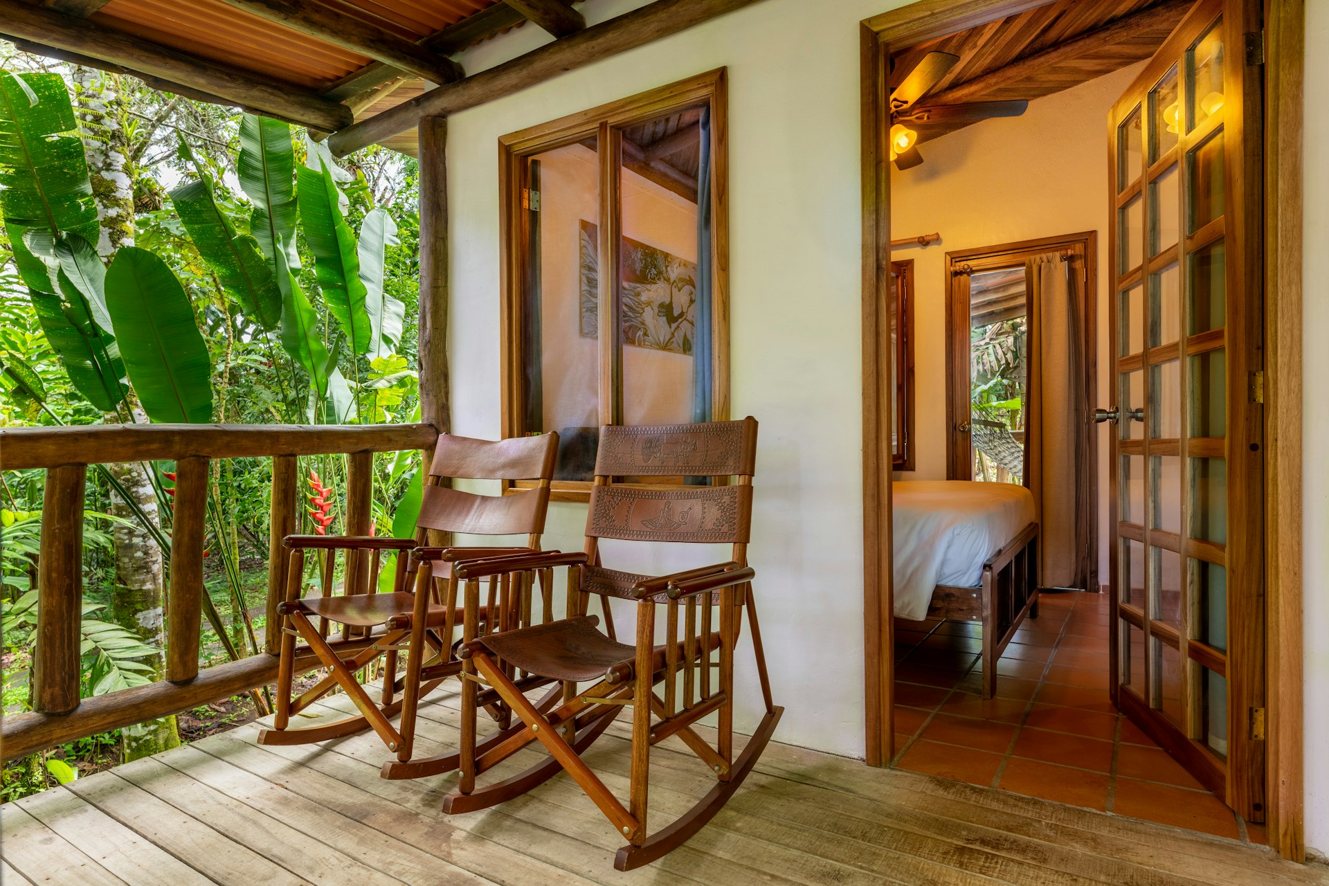
[{"label": "bright green narrow leaf leaning left, nearest the roof post of the large leaves", "polygon": [[322,159],[316,170],[302,166],[298,182],[300,227],[314,254],[314,270],[323,290],[323,300],[346,331],[351,352],[365,353],[371,347],[367,290],[360,280],[355,231],[340,207],[342,191]]}]

